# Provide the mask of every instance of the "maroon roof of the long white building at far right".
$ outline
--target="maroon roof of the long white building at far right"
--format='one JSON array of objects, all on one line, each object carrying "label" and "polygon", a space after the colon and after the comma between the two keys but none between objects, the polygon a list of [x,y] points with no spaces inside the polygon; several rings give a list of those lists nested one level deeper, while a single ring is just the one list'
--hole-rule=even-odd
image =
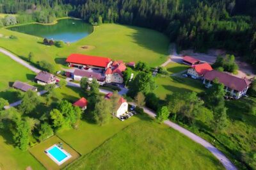
[{"label": "maroon roof of the long white building at far right", "polygon": [[217,78],[220,83],[228,88],[236,89],[237,91],[243,91],[251,84],[247,79],[241,79],[228,73],[218,72],[217,70],[205,73],[204,78],[209,81],[213,81]]}]

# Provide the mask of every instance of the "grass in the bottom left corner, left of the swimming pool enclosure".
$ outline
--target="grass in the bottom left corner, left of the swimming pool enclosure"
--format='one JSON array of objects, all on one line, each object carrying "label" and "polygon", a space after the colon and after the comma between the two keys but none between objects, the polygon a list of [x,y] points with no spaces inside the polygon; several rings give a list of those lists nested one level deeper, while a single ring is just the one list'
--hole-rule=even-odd
[{"label": "grass in the bottom left corner, left of the swimming pool enclosure", "polygon": [[12,134],[8,130],[0,130],[0,169],[44,169],[29,151],[21,151],[14,148]]}]

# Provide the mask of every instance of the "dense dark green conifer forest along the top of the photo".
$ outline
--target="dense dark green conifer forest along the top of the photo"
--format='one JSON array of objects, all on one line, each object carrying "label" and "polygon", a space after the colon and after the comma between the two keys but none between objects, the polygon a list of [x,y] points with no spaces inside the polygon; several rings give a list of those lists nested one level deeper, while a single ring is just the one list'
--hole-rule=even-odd
[{"label": "dense dark green conifer forest along the top of the photo", "polygon": [[180,49],[223,48],[250,63],[256,63],[255,8],[254,0],[0,0],[0,13],[19,13],[19,23],[70,15],[91,23],[148,27],[168,35]]}]

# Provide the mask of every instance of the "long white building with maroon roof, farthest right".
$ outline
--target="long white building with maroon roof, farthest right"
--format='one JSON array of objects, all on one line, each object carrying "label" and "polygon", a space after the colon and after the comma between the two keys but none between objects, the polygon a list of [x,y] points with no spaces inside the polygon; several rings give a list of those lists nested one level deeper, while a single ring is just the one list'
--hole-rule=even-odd
[{"label": "long white building with maroon roof, farthest right", "polygon": [[211,87],[214,79],[218,79],[220,83],[224,84],[225,91],[229,93],[231,97],[236,99],[246,95],[246,92],[252,83],[248,79],[241,79],[228,73],[212,70],[204,75],[205,86],[207,88]]}]

